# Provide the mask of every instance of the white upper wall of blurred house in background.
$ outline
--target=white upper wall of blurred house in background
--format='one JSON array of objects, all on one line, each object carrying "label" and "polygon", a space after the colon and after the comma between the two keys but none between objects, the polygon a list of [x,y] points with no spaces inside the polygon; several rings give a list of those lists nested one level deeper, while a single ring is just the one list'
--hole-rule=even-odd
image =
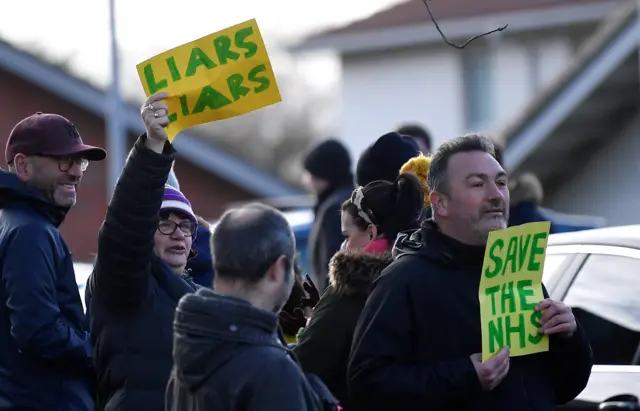
[{"label": "white upper wall of blurred house in background", "polygon": [[[575,52],[573,41],[538,33],[479,40],[465,50],[439,44],[345,55],[340,136],[358,156],[407,121],[425,125],[435,144],[468,131],[497,131],[562,72]],[[488,108],[480,121],[469,113],[472,99],[476,109]]]}]

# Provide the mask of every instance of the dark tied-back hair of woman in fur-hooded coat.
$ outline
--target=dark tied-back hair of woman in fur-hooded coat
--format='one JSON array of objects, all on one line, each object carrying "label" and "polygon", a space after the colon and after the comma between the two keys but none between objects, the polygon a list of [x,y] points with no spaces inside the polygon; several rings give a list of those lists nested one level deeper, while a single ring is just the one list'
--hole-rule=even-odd
[{"label": "dark tied-back hair of woman in fur-hooded coat", "polygon": [[[420,226],[424,193],[416,176],[403,173],[392,183],[373,181],[362,188],[362,195],[362,211],[384,238],[393,241],[399,232]],[[342,212],[348,213],[361,230],[369,225],[351,200],[342,205]]]}]

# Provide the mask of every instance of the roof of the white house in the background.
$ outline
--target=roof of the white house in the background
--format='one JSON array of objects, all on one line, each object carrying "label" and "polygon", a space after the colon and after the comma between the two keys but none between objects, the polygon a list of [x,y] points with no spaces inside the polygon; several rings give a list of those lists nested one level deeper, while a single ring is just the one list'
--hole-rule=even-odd
[{"label": "roof of the white house in the background", "polygon": [[[618,0],[429,0],[451,40],[509,24],[509,33],[566,27],[600,20]],[[342,53],[406,47],[439,41],[422,0],[408,0],[372,16],[312,35],[292,51],[334,49]]]}]

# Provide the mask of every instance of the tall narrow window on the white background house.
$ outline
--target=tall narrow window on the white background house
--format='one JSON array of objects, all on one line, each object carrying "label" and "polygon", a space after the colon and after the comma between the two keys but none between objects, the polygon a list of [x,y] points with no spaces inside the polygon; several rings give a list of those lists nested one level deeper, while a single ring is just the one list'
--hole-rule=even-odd
[{"label": "tall narrow window on the white background house", "polygon": [[472,47],[462,53],[465,127],[479,131],[492,120],[492,76],[490,49]]}]

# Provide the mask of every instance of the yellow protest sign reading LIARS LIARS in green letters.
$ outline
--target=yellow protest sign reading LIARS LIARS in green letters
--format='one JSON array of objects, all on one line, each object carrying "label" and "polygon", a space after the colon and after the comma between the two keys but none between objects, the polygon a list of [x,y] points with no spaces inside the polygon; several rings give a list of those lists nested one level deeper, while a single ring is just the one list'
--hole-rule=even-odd
[{"label": "yellow protest sign reading LIARS LIARS in green letters", "polygon": [[255,19],[165,51],[136,66],[145,94],[169,93],[169,140],[198,124],[280,102]]}]

